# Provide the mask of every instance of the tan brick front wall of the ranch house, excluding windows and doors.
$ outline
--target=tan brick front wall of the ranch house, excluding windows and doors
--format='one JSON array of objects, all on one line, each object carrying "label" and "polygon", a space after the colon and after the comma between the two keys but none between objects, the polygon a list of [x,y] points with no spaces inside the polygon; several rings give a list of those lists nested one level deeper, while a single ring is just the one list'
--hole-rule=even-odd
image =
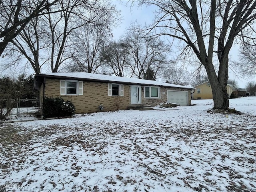
[{"label": "tan brick front wall of the ranch house, excluding windows and doors", "polygon": [[[42,97],[42,87],[43,85],[40,88],[40,97]],[[166,102],[167,90],[188,91],[188,103],[191,105],[190,90],[160,87],[160,99],[148,99],[144,98],[144,86],[141,86],[142,105],[156,106],[161,102]],[[77,114],[98,112],[100,111],[98,108],[100,104],[103,104],[104,111],[126,110],[131,103],[130,94],[130,85],[124,84],[124,96],[108,96],[108,83],[83,82],[82,96],[60,95],[60,80],[47,78],[44,88],[44,96],[61,97],[64,100],[72,101]]]}]

